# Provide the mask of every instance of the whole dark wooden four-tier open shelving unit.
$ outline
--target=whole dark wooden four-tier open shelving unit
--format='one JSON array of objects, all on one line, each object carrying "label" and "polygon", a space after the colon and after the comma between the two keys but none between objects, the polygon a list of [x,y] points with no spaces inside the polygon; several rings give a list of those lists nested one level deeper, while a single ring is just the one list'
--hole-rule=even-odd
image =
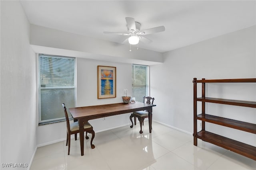
[{"label": "whole dark wooden four-tier open shelving unit", "polygon": [[[225,127],[230,127],[238,129],[241,131],[246,131],[249,133],[256,134],[256,124],[227,119],[224,117],[218,117],[214,115],[209,115],[205,113],[205,102],[216,103],[216,104],[226,104],[234,106],[243,106],[243,107],[253,107],[256,108],[256,102],[251,101],[242,101],[242,100],[229,100],[229,99],[220,99],[220,98],[208,98],[205,97],[205,83],[236,83],[236,82],[256,82],[256,78],[243,78],[243,79],[218,79],[218,80],[197,80],[194,78],[194,145],[197,146],[197,139],[202,139],[203,141],[218,145],[225,149],[231,150],[253,160],[256,160],[256,147],[247,145],[223,137],[205,130],[205,122],[214,123],[217,125],[222,125]],[[197,97],[197,83],[202,83],[202,97]],[[202,113],[197,114],[197,102],[202,102]],[[197,131],[197,120],[202,121],[202,130]]]}]

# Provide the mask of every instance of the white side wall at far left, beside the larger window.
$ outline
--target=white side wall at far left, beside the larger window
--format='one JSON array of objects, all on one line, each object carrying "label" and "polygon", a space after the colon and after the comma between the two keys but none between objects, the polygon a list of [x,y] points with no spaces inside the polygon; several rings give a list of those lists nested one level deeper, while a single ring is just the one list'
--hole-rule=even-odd
[{"label": "white side wall at far left, beside the larger window", "polygon": [[20,2],[1,1],[1,163],[30,164],[36,149],[36,61],[29,35]]}]

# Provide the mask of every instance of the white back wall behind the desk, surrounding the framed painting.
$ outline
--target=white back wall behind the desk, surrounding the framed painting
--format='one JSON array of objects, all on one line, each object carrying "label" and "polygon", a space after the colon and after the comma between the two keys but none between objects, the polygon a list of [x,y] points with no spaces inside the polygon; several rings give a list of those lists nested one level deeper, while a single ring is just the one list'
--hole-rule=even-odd
[{"label": "white back wall behind the desk, surrounding the framed painting", "polygon": [[[116,98],[97,98],[97,66],[116,67]],[[76,106],[93,106],[100,104],[121,103],[123,90],[128,89],[128,95],[132,94],[132,65],[97,61],[91,59],[76,59],[77,71],[77,101]],[[67,106],[68,107],[68,106]],[[63,113],[64,114],[64,113]],[[90,120],[94,131],[112,129],[130,123],[130,113]],[[127,128],[130,128],[127,125]],[[38,127],[38,146],[66,140],[66,122],[42,125]]]}]

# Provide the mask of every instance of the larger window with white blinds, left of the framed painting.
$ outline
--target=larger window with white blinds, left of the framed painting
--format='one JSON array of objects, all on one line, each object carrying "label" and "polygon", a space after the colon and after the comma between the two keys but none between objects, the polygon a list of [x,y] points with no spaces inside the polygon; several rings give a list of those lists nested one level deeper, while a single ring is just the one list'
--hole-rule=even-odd
[{"label": "larger window with white blinds, left of the framed painting", "polygon": [[76,58],[39,54],[39,123],[65,119],[61,104],[75,107],[75,101]]}]

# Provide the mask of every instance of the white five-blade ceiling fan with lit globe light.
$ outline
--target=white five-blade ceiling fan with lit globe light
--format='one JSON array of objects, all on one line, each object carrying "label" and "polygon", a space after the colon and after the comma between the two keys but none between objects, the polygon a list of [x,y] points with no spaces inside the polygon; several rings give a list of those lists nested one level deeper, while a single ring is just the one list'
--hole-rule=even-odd
[{"label": "white five-blade ceiling fan with lit globe light", "polygon": [[139,43],[139,41],[142,41],[144,43],[152,42],[152,40],[150,40],[142,35],[148,35],[148,34],[152,34],[152,33],[162,32],[165,30],[164,26],[159,26],[159,27],[154,27],[154,28],[145,29],[143,31],[140,31],[140,23],[136,22],[134,20],[134,18],[126,17],[125,20],[127,23],[128,33],[116,33],[116,32],[103,32],[103,33],[115,34],[115,35],[130,35],[130,37],[128,37],[128,42],[131,45],[136,45]]}]

